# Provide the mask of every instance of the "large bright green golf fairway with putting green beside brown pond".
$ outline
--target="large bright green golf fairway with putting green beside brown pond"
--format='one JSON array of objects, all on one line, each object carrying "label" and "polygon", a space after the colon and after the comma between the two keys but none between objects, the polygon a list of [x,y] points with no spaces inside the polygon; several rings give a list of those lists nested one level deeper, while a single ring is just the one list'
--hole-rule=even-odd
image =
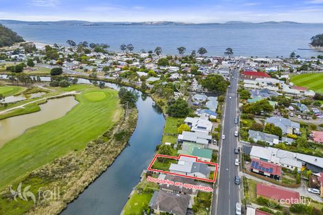
[{"label": "large bright green golf fairway with putting green beside brown pond", "polygon": [[84,149],[120,119],[117,91],[87,88],[76,95],[79,104],[67,115],[28,129],[0,149],[0,189],[57,157]]}]

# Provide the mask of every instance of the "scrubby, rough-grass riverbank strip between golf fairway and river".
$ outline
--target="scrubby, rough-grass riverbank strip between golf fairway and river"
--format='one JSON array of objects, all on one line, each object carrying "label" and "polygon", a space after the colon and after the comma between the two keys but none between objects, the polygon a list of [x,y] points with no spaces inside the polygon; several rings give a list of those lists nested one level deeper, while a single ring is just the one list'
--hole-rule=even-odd
[{"label": "scrubby, rough-grass riverbank strip between golf fairway and river", "polygon": [[[38,189],[60,190],[58,199],[36,199],[37,204],[33,205],[32,200],[14,201],[9,189],[6,189],[0,199],[0,208],[3,212],[10,214],[58,214],[67,203],[77,198],[87,185],[93,182],[113,163],[114,159],[126,146],[129,137],[133,133],[137,122],[137,110],[132,109],[122,119],[87,147],[78,152],[70,152],[68,155],[55,159],[54,162],[34,170],[23,181],[22,187],[31,185],[30,191],[36,196]],[[121,135],[122,133],[122,135]],[[18,182],[13,188],[16,188]],[[57,189],[56,189],[57,190]],[[19,208],[16,210],[14,208]]]}]

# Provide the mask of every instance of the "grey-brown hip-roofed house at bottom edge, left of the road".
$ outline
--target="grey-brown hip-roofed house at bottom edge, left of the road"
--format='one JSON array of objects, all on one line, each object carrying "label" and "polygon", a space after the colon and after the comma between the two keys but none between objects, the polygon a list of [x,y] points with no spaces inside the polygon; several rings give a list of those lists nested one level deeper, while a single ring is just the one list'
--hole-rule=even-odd
[{"label": "grey-brown hip-roofed house at bottom edge, left of the road", "polygon": [[188,204],[190,203],[190,196],[176,194],[173,192],[166,192],[164,190],[155,191],[149,207],[154,210],[154,214],[161,212],[186,215]]}]

